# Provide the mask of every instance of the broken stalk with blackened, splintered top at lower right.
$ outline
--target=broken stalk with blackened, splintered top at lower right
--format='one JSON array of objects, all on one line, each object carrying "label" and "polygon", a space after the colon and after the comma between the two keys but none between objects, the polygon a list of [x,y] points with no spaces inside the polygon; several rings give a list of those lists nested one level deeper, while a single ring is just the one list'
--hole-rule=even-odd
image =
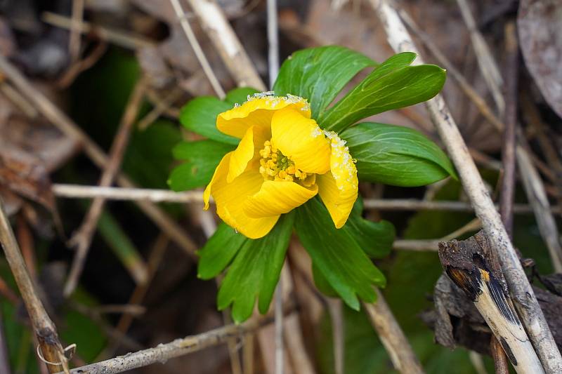
[{"label": "broken stalk with blackened, splintered top at lower right", "polygon": [[485,234],[439,243],[439,259],[447,276],[484,317],[517,373],[544,373],[509,300],[502,269]]}]

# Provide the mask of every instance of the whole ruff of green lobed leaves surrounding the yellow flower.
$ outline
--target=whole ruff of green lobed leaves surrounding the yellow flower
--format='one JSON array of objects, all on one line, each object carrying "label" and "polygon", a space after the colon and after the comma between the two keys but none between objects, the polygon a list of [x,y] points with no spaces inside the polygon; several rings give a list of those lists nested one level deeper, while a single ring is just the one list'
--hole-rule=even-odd
[{"label": "whole ruff of green lobed leaves surrounding the yellow flower", "polygon": [[[402,126],[359,123],[379,114],[429,100],[445,82],[435,65],[412,65],[414,53],[399,53],[377,65],[365,55],[340,46],[309,48],[289,57],[273,86],[275,95],[308,99],[320,127],[336,131],[357,160],[360,180],[398,186],[420,186],[452,175],[455,170],[443,151],[421,133]],[[334,102],[351,79],[371,69],[359,84]],[[239,88],[225,100],[195,98],[183,107],[183,126],[205,140],[181,142],[174,158],[183,163],[169,177],[171,189],[203,187],[238,139],[220,133],[216,116],[242,104],[256,91]],[[315,283],[328,295],[339,295],[358,309],[360,299],[374,301],[373,286],[384,287],[384,274],[372,258],[388,255],[394,240],[390,222],[362,218],[358,199],[344,227],[336,229],[320,199],[311,199],[283,215],[272,232],[251,240],[223,224],[199,252],[199,276],[210,279],[225,269],[218,307],[233,307],[233,318],[247,319],[256,300],[266,312],[273,298],[293,228],[313,260]]]}]

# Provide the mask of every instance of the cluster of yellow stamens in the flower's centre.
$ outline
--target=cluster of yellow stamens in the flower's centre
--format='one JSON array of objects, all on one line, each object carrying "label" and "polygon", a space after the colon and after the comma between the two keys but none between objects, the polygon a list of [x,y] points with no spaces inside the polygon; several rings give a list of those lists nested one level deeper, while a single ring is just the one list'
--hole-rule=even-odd
[{"label": "cluster of yellow stamens in the flower's centre", "polygon": [[271,144],[270,140],[263,143],[263,149],[259,154],[261,156],[259,172],[266,180],[301,182],[307,187],[315,182],[314,174],[308,174],[296,168],[294,162]]}]

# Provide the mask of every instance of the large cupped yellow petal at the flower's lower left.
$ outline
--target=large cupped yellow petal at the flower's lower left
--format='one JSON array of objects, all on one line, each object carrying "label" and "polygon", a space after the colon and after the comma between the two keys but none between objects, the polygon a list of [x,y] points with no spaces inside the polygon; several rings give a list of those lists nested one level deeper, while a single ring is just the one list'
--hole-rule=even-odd
[{"label": "large cupped yellow petal at the flower's lower left", "polygon": [[244,201],[259,192],[263,184],[263,177],[257,171],[246,171],[240,174],[232,183],[226,182],[230,152],[218,164],[211,182],[204,192],[204,201],[208,207],[209,196],[212,195],[216,203],[216,213],[230,227],[241,232],[250,239],[265,236],[273,229],[279,215],[265,218],[250,218],[242,210]]}]

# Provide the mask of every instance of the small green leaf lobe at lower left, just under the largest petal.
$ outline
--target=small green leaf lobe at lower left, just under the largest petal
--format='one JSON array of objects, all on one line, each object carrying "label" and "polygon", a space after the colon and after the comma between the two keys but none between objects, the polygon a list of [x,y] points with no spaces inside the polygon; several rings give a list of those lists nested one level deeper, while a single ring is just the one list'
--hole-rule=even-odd
[{"label": "small green leaf lobe at lower left, just under the largest petal", "polygon": [[209,238],[205,246],[197,252],[200,256],[197,265],[197,276],[211,279],[228,266],[230,261],[249,239],[239,234],[232,227],[221,223],[216,232]]}]

